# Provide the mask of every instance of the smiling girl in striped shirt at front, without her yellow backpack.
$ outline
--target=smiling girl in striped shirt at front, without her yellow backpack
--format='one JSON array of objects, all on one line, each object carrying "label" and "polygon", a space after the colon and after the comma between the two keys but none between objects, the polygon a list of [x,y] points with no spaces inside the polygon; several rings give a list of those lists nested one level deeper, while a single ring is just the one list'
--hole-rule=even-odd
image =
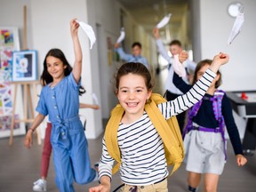
[{"label": "smiling girl in striped shirt at front, without her yellow backpack", "polygon": [[[213,58],[212,65],[196,84],[175,100],[158,104],[165,119],[176,116],[201,100],[212,83],[221,65],[228,62],[228,55],[221,53]],[[180,57],[180,60],[182,58]],[[117,142],[121,153],[120,176],[123,191],[167,192],[167,170],[164,143],[150,121],[144,107],[153,89],[148,68],[140,63],[126,63],[116,74],[116,96],[124,108],[117,131]],[[90,192],[110,191],[114,158],[109,156],[105,138],[99,164],[100,185]]]}]

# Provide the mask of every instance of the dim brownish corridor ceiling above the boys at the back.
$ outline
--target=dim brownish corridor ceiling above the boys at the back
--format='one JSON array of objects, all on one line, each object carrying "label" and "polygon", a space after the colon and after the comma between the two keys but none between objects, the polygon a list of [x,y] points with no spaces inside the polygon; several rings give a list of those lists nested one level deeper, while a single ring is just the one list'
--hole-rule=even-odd
[{"label": "dim brownish corridor ceiling above the boys at the back", "polygon": [[[184,27],[184,17],[187,17],[188,13],[188,0],[117,0],[124,5],[124,8],[132,14],[134,20],[136,20],[148,33],[152,32],[152,29],[156,26],[158,21],[162,20],[168,13],[172,13],[169,25],[166,26],[172,36],[177,36],[180,32],[180,28]],[[186,18],[187,20],[187,18]],[[186,21],[187,22],[187,21]],[[187,25],[187,24],[185,24]],[[161,35],[170,37],[167,35],[166,28],[161,31]],[[188,30],[188,28],[187,28]],[[188,31],[186,31],[188,33]]]}]

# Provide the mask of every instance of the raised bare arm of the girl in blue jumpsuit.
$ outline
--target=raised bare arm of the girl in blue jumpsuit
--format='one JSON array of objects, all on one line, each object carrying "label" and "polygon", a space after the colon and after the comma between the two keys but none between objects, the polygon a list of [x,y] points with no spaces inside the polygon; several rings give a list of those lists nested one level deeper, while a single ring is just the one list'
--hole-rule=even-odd
[{"label": "raised bare arm of the girl in blue jumpsuit", "polygon": [[75,52],[75,63],[72,70],[72,74],[78,84],[81,73],[82,73],[82,49],[78,38],[78,28],[79,24],[76,22],[76,19],[71,20],[70,22],[70,31],[73,40],[74,52]]}]

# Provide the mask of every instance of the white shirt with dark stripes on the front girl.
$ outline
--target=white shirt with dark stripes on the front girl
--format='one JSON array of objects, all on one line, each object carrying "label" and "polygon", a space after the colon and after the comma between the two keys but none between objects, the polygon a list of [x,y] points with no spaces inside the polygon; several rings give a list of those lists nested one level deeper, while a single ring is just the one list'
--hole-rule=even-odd
[{"label": "white shirt with dark stripes on the front girl", "polygon": [[[158,104],[165,119],[176,116],[201,100],[216,76],[208,69],[204,76],[184,95],[175,100]],[[144,111],[132,124],[119,124],[117,142],[121,151],[120,176],[125,184],[145,186],[163,180],[169,174],[164,155],[164,143]],[[99,165],[99,175],[112,178],[114,159],[109,156],[105,139]]]}]

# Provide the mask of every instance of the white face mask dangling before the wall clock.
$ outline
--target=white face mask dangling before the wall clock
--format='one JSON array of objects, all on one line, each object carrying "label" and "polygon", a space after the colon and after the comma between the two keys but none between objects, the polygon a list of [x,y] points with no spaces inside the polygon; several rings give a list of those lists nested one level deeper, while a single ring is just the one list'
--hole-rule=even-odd
[{"label": "white face mask dangling before the wall clock", "polygon": [[240,33],[241,28],[243,26],[243,23],[244,23],[244,7],[240,7],[239,13],[236,16],[235,23],[234,23],[231,33],[228,37],[228,45],[233,42],[233,40],[236,38],[236,36],[238,36],[238,34]]}]

